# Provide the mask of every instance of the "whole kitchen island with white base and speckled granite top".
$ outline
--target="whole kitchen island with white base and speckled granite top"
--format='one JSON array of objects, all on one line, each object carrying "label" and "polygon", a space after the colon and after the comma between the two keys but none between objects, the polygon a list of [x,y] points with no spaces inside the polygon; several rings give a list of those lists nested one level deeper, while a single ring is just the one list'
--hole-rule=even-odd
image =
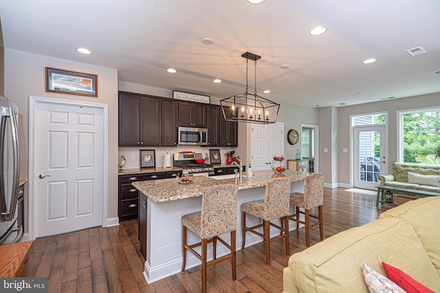
[{"label": "whole kitchen island with white base and speckled granite top", "polygon": [[[303,192],[304,180],[308,173],[286,171],[283,176],[291,178],[291,192]],[[141,252],[145,258],[144,277],[148,283],[163,279],[181,271],[181,216],[201,210],[201,195],[204,189],[213,185],[235,184],[239,188],[237,207],[236,247],[241,248],[241,211],[243,202],[261,200],[265,196],[268,180],[274,178],[274,172],[255,171],[252,178],[228,178],[217,180],[214,177],[194,177],[191,184],[180,184],[179,178],[139,181],[132,185],[139,191],[139,236]],[[291,208],[292,209],[292,208]],[[293,210],[292,210],[293,212]],[[261,220],[248,216],[249,225],[259,224]],[[279,220],[274,220],[279,224]],[[290,230],[296,228],[289,226]],[[272,237],[279,234],[276,228],[271,230]],[[223,235],[229,242],[229,235]],[[188,233],[188,243],[199,242],[199,237]],[[246,246],[263,241],[257,235],[246,236]],[[217,255],[227,253],[227,248],[218,242]],[[212,257],[212,246],[208,255]],[[199,259],[187,255],[186,268],[198,266]]]}]

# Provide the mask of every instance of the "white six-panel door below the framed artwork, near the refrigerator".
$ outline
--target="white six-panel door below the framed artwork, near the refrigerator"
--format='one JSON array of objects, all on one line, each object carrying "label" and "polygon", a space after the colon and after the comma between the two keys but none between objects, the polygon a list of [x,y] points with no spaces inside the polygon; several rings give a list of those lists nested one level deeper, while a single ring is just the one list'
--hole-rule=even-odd
[{"label": "white six-panel door below the framed artwork, near the refrigerator", "polygon": [[102,108],[36,106],[35,236],[102,225]]}]

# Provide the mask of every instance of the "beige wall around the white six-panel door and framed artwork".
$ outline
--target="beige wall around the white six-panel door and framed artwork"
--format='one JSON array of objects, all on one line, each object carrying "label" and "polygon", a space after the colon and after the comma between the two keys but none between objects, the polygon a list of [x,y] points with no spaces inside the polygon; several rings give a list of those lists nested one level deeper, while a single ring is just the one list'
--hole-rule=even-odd
[{"label": "beige wall around the white six-panel door and framed artwork", "polygon": [[[85,56],[87,62],[87,56]],[[47,93],[45,67],[55,67],[98,75],[98,97],[83,97]],[[51,58],[22,51],[5,49],[5,96],[19,106],[20,176],[28,179],[29,150],[29,96],[53,97],[98,104],[107,104],[109,110],[109,148],[107,218],[118,216],[118,71],[85,63]],[[27,206],[27,204],[26,204]]]}]

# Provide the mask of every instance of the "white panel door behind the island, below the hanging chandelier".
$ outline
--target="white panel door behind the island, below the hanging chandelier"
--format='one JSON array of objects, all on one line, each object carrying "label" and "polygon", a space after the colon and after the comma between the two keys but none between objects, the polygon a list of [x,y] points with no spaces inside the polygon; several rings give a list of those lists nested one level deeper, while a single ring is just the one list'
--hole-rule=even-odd
[{"label": "white panel door behind the island, below the hanging chandelier", "polygon": [[284,124],[250,124],[251,166],[255,171],[271,169],[274,156],[284,155]]}]

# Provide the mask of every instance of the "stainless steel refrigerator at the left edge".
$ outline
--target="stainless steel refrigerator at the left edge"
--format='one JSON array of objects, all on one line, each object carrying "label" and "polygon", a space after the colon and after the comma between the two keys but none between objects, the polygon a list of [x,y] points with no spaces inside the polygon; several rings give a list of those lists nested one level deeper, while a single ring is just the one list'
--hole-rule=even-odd
[{"label": "stainless steel refrigerator at the left edge", "polygon": [[17,224],[20,153],[18,107],[0,95],[0,245],[19,242],[23,227]]}]

